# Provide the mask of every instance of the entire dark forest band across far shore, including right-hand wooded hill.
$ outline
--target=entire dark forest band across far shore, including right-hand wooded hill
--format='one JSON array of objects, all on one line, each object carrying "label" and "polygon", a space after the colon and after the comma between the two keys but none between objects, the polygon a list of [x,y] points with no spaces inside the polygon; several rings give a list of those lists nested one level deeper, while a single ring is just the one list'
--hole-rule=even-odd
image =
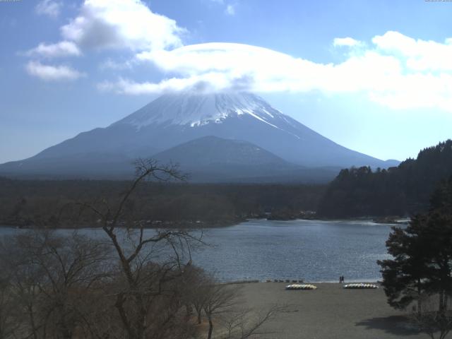
[{"label": "entire dark forest band across far shore, including right-hand wooded hill", "polygon": [[[452,175],[452,141],[421,150],[398,167],[343,169],[328,185],[146,182],[126,206],[129,220],[149,227],[232,225],[247,218],[289,220],[386,217],[422,213],[441,179]],[[130,182],[20,180],[0,177],[0,225],[95,227],[81,208],[117,203]]]}]

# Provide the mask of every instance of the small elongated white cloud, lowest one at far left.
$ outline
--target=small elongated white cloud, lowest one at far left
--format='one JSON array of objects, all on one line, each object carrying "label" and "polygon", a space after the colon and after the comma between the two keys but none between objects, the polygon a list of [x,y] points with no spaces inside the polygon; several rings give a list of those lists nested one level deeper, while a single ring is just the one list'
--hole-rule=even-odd
[{"label": "small elongated white cloud, lowest one at far left", "polygon": [[31,76],[35,76],[44,81],[73,81],[85,76],[84,73],[76,71],[70,66],[45,65],[39,61],[29,61],[25,69]]}]

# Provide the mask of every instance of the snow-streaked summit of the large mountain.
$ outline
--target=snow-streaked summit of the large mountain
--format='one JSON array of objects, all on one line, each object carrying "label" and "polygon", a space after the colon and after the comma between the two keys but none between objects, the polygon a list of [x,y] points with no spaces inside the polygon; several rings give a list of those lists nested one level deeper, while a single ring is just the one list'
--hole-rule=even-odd
[{"label": "snow-streaked summit of the large mountain", "polygon": [[149,125],[203,126],[221,124],[228,117],[249,115],[275,128],[275,117],[283,116],[261,97],[251,93],[171,93],[117,121],[137,129]]}]

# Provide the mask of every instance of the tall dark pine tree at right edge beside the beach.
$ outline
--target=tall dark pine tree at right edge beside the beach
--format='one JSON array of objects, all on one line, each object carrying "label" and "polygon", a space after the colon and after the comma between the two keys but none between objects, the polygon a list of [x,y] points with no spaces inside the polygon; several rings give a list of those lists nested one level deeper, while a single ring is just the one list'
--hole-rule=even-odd
[{"label": "tall dark pine tree at right edge beside the beach", "polygon": [[417,301],[420,313],[422,296],[437,295],[445,316],[452,295],[452,177],[434,191],[428,213],[393,227],[386,246],[393,259],[378,263],[388,304],[405,309]]}]

